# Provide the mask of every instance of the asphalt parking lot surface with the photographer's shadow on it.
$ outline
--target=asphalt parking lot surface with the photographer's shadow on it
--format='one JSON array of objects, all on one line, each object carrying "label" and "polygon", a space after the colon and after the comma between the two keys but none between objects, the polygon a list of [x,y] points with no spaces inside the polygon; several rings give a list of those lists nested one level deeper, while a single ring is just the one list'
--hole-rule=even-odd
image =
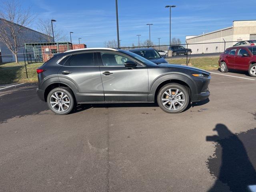
[{"label": "asphalt parking lot surface with the photographer's shadow on it", "polygon": [[95,104],[58,116],[36,84],[0,90],[0,191],[252,189],[256,79],[226,75],[214,71],[210,100],[180,114],[156,104]]}]

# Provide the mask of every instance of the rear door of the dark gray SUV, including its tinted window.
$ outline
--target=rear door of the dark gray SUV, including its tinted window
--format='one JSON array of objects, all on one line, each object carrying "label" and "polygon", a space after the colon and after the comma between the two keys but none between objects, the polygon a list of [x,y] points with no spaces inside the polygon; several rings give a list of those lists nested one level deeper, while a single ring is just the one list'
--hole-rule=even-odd
[{"label": "rear door of the dark gray SUV, including its tinted window", "polygon": [[77,102],[104,102],[100,67],[96,59],[94,52],[72,54],[58,72],[60,82],[66,79],[78,88]]}]

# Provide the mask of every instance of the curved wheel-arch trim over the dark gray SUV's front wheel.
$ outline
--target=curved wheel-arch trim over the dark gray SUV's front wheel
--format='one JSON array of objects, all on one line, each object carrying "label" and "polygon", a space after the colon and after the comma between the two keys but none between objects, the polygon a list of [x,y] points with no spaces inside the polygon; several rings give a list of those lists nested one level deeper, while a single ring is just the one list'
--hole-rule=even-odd
[{"label": "curved wheel-arch trim over the dark gray SUV's front wheel", "polygon": [[192,94],[197,94],[197,86],[196,83],[194,82],[194,80],[183,73],[179,73],[179,72],[170,72],[168,74],[162,74],[161,76],[158,76],[151,84],[149,87],[149,94],[148,94],[148,101],[149,102],[153,102],[155,99],[155,94],[156,94],[156,90],[158,88],[158,86],[162,83],[165,82],[167,80],[180,80],[184,83],[186,83]]}]

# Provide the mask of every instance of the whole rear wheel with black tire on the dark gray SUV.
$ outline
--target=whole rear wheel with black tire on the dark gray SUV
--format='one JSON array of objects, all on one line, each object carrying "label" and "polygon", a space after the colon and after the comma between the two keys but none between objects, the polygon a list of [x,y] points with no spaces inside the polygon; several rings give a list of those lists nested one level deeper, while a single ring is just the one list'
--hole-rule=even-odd
[{"label": "whole rear wheel with black tire on the dark gray SUV", "polygon": [[[57,96],[59,96],[56,99],[56,94]],[[61,99],[61,95],[63,93],[63,99]],[[54,97],[52,96],[54,94]],[[66,96],[64,96],[66,95]],[[53,104],[51,104],[50,102],[53,102]],[[55,103],[56,102],[56,103]],[[69,102],[69,103],[68,103]],[[70,113],[72,111],[72,109],[74,108],[74,95],[72,93],[72,91],[69,88],[66,87],[57,87],[54,88],[53,90],[51,90],[47,96],[47,104],[48,107],[50,108],[50,110],[52,110],[54,113],[58,114],[58,115],[66,115],[68,113]],[[56,104],[55,106],[52,106]],[[68,106],[68,107],[67,107]],[[63,109],[63,111],[62,111]],[[60,110],[60,111],[58,111]]]}]

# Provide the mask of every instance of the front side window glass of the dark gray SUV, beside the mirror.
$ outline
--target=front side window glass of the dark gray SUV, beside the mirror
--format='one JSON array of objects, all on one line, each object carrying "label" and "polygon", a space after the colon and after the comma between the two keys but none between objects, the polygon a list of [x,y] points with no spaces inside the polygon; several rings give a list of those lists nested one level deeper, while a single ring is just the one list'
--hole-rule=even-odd
[{"label": "front side window glass of the dark gray SUV, beside the mirror", "polygon": [[101,52],[101,58],[104,66],[120,66],[123,67],[124,63],[130,60],[127,57],[122,55],[108,53],[108,52]]}]

